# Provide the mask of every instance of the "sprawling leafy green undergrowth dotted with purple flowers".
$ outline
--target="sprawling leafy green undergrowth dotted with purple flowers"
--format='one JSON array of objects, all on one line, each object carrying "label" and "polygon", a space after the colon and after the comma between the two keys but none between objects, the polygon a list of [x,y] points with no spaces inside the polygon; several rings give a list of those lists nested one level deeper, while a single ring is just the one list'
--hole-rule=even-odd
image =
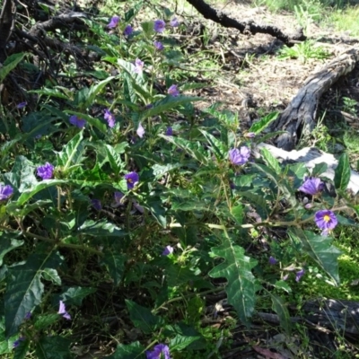
[{"label": "sprawling leafy green undergrowth dotted with purple flowers", "polygon": [[[116,6],[59,31],[96,62],[53,52],[56,75],[1,107],[0,354],[219,358],[259,309],[291,337],[288,300],[353,293],[347,154],[328,180],[259,151],[278,113],[245,130],[198,109],[221,57],[184,46],[170,8]],[[0,78],[45,65],[15,53]]]}]

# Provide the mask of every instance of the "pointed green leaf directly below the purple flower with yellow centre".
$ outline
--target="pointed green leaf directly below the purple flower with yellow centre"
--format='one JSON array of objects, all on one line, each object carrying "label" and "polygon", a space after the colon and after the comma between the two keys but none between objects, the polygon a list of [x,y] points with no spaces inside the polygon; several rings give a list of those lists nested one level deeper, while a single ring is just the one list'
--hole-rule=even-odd
[{"label": "pointed green leaf directly below the purple flower with yellow centre", "polygon": [[329,236],[320,236],[310,231],[291,228],[289,237],[292,241],[302,242],[302,251],[311,258],[339,285],[337,258],[341,251],[331,245],[333,239]]}]

